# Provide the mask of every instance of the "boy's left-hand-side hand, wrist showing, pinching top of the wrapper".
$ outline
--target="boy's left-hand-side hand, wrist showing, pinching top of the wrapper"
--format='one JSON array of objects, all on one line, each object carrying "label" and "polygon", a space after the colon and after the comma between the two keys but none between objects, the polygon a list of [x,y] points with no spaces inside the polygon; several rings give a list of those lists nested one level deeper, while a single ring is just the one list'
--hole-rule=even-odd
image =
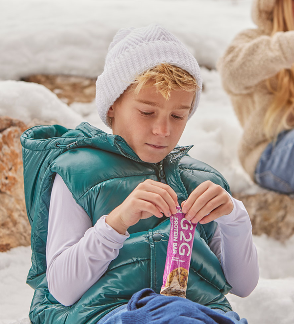
[{"label": "boy's left-hand-side hand, wrist showing, pinching top of the wrapper", "polygon": [[177,195],[167,184],[147,179],[105,218],[105,222],[124,234],[127,228],[151,216],[161,218],[164,213],[176,213]]}]

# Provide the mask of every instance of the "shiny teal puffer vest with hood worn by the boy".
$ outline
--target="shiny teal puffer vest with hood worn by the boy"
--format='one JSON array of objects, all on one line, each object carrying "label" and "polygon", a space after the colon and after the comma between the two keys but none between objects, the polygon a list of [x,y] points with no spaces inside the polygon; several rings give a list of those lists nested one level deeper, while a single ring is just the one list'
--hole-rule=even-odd
[{"label": "shiny teal puffer vest with hood worn by the boy", "polygon": [[[49,293],[46,279],[49,202],[56,173],[93,225],[146,179],[160,181],[165,177],[179,204],[206,180],[229,192],[220,173],[187,155],[192,146],[176,147],[160,165],[147,163],[140,160],[121,136],[107,134],[88,123],[81,123],[74,130],[60,125],[35,126],[22,134],[21,143],[25,203],[32,226],[32,266],[26,282],[35,290],[29,313],[34,324],[96,324],[143,288],[159,293],[167,254],[169,218],[153,216],[140,220],[129,227],[130,237],[102,277],[73,305],[60,304]],[[224,295],[231,286],[207,245],[216,227],[215,222],[197,224],[187,298],[229,311],[231,306]]]}]

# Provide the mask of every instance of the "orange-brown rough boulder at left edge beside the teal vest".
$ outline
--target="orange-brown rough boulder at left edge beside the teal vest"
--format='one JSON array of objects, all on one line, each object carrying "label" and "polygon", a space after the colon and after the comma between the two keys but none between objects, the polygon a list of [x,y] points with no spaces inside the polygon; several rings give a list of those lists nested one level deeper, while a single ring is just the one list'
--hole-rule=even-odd
[{"label": "orange-brown rough boulder at left edge beside the teal vest", "polygon": [[30,244],[20,142],[25,129],[19,120],[0,117],[0,251]]}]

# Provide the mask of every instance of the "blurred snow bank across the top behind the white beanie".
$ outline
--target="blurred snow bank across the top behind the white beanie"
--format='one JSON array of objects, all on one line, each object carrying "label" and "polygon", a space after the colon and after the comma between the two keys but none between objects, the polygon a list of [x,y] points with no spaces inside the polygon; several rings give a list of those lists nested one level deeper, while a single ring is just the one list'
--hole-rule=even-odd
[{"label": "blurred snow bank across the top behind the white beanie", "polygon": [[97,77],[122,27],[159,23],[200,65],[215,67],[238,31],[254,27],[251,0],[1,1],[0,79],[31,74]]}]

